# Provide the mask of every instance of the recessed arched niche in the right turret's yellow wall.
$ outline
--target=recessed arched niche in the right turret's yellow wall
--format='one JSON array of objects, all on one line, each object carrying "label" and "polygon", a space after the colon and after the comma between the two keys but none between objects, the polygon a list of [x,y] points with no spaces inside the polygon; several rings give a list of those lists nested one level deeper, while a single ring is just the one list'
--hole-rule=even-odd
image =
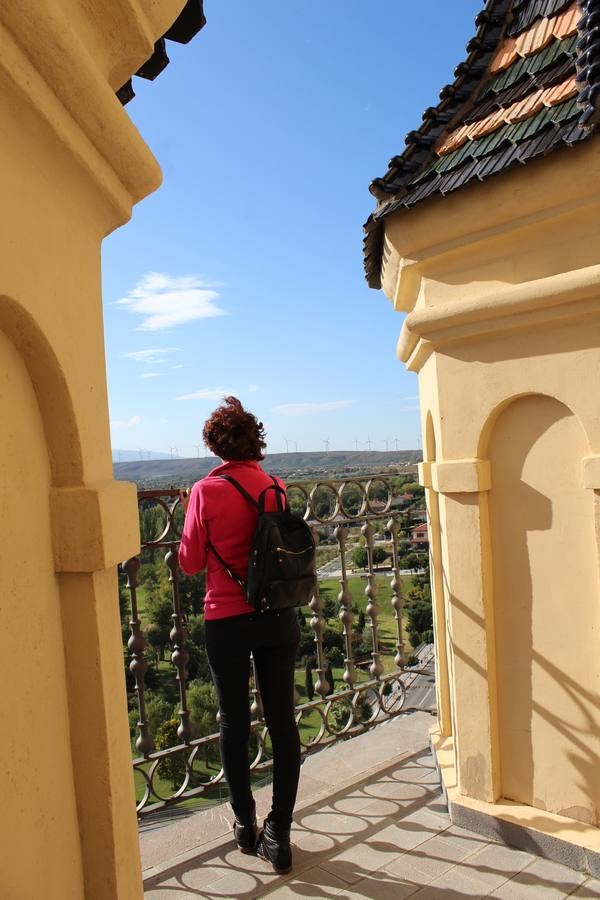
[{"label": "recessed arched niche in the right turret's yellow wall", "polygon": [[[491,465],[484,567],[493,595],[501,792],[597,824],[600,583],[594,495],[581,478],[588,453],[579,419],[545,394],[500,404],[481,439]],[[534,765],[539,759],[544,771]]]}]

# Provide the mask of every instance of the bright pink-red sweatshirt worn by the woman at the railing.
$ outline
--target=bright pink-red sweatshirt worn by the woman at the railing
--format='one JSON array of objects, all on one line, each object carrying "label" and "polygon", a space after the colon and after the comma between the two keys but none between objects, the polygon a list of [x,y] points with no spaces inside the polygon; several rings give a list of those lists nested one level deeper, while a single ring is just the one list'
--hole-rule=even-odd
[{"label": "bright pink-red sweatshirt worn by the woman at the railing", "polygon": [[[186,575],[195,575],[206,568],[206,619],[224,619],[254,612],[241,587],[208,549],[210,541],[227,565],[246,579],[257,510],[232,484],[214,477],[221,473],[239,481],[255,500],[258,500],[262,490],[273,484],[270,475],[257,462],[225,462],[192,488],[181,535],[179,565]],[[279,479],[277,484],[285,488]],[[266,495],[265,509],[268,512],[277,509],[276,493],[269,491]]]}]

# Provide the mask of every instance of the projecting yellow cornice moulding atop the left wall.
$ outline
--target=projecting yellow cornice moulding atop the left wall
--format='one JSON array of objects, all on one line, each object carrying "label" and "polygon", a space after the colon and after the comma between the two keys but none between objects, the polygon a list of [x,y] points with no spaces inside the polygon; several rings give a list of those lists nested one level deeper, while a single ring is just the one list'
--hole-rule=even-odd
[{"label": "projecting yellow cornice moulding atop the left wall", "polygon": [[[161,26],[141,15],[137,2],[125,6],[129,27],[119,46],[130,60],[143,60],[152,29]],[[160,169],[64,7],[51,0],[0,5],[0,48],[1,77],[47,122],[119,220],[129,218],[132,204],[160,184]]]}]

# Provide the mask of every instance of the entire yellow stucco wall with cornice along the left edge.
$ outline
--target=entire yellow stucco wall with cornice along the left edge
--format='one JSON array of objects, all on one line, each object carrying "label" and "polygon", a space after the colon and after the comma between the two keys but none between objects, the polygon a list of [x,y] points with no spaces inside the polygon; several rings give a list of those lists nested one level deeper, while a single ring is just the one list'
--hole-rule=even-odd
[{"label": "entire yellow stucco wall with cornice along the left edge", "polygon": [[102,238],[160,183],[114,95],[184,0],[0,5],[0,896],[142,895]]}]

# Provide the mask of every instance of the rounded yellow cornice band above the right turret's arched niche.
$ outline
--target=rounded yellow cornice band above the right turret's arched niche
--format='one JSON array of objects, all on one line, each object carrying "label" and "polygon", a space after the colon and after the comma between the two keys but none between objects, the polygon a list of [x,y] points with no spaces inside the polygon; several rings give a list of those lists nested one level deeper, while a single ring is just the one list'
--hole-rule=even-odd
[{"label": "rounded yellow cornice band above the right turret's arched niche", "polygon": [[397,352],[407,368],[419,371],[431,353],[454,343],[599,315],[600,265],[588,266],[415,310],[404,321]]}]

